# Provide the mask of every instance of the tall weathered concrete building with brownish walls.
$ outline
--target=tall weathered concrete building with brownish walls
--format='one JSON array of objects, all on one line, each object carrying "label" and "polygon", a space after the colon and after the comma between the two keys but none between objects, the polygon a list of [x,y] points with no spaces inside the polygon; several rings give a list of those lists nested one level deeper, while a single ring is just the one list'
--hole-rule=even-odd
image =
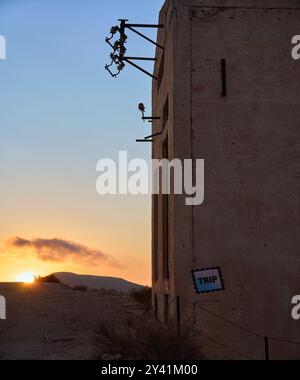
[{"label": "tall weathered concrete building with brownish walls", "polygon": [[[153,304],[200,331],[209,358],[300,358],[299,20],[298,0],[167,0],[160,13],[153,157],[205,159],[205,203],[153,197]],[[225,290],[197,294],[192,271],[214,267]]]}]

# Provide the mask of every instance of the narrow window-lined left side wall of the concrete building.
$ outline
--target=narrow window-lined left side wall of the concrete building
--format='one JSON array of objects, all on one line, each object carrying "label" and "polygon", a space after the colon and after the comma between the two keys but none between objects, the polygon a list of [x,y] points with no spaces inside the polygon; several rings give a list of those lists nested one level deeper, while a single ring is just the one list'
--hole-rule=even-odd
[{"label": "narrow window-lined left side wall of the concrete building", "polygon": [[[162,145],[166,139],[169,141],[169,155],[173,155],[173,24],[172,24],[172,11],[169,8],[169,3],[167,2],[162,8],[159,23],[164,24],[164,29],[159,29],[157,40],[160,45],[164,46],[164,51],[157,48],[156,58],[157,64],[155,66],[154,74],[157,77],[161,77],[160,81],[153,81],[152,88],[152,114],[154,116],[160,116],[160,121],[153,122],[153,134],[163,131],[163,134],[154,139],[153,143],[153,157],[163,158],[163,148]],[[166,125],[163,125],[163,112],[164,106],[168,101],[169,104],[169,117]],[[157,202],[157,206],[155,206]],[[157,216],[153,217],[152,220],[152,230],[155,233],[152,234],[152,264],[153,264],[153,288],[155,294],[157,295],[157,315],[158,318],[164,319],[164,296],[174,294],[175,289],[175,271],[172,268],[175,267],[175,257],[171,252],[174,252],[174,240],[173,240],[173,228],[174,228],[174,218],[173,218],[173,197],[170,196],[169,199],[169,236],[163,236],[163,225],[162,225],[162,202],[163,197],[161,195],[153,197],[152,205],[152,215],[154,216],[154,208],[157,207]],[[168,280],[163,278],[163,267],[162,267],[162,251],[163,251],[163,241],[164,239],[169,240],[169,250],[170,250],[170,278]],[[156,257],[156,259],[155,259]],[[156,268],[155,268],[156,267]],[[158,278],[155,278],[154,274],[157,272]],[[153,300],[155,304],[155,300]]]}]

